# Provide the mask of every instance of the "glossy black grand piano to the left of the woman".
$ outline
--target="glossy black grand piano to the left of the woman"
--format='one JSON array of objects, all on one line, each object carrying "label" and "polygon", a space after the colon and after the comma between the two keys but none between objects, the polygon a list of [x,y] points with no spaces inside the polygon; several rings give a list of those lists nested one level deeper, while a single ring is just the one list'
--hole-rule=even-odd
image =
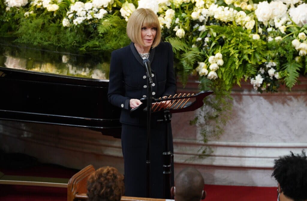
[{"label": "glossy black grand piano to the left of the woman", "polygon": [[120,136],[107,99],[109,59],[0,44],[0,119]]}]

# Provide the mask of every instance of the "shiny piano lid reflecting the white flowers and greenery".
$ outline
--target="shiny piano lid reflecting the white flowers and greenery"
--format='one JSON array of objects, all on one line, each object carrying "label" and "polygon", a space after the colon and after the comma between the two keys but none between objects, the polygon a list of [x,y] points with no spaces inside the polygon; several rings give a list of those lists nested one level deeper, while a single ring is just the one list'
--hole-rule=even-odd
[{"label": "shiny piano lid reflecting the white flowers and greenery", "polygon": [[0,40],[0,67],[80,78],[109,79],[111,53],[42,50]]}]

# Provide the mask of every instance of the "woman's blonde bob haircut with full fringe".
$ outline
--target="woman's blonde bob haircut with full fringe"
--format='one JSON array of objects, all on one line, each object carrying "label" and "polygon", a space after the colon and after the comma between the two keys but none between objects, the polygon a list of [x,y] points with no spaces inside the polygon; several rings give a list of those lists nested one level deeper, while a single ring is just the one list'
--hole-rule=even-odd
[{"label": "woman's blonde bob haircut with full fringe", "polygon": [[136,9],[130,16],[127,23],[127,35],[133,43],[145,46],[142,40],[142,27],[157,28],[156,37],[153,39],[152,48],[157,47],[161,41],[161,29],[157,15],[151,9]]}]

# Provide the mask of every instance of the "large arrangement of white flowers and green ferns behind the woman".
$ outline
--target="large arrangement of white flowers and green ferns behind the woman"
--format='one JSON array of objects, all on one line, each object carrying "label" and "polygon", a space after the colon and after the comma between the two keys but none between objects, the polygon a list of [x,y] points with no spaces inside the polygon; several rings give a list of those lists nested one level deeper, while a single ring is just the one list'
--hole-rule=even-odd
[{"label": "large arrangement of white flowers and green ferns behind the woman", "polygon": [[197,76],[202,90],[215,91],[212,117],[230,109],[225,97],[242,80],[276,92],[306,76],[306,0],[0,0],[0,33],[23,43],[111,51],[129,44],[126,21],[137,8],[157,14],[182,83]]}]

